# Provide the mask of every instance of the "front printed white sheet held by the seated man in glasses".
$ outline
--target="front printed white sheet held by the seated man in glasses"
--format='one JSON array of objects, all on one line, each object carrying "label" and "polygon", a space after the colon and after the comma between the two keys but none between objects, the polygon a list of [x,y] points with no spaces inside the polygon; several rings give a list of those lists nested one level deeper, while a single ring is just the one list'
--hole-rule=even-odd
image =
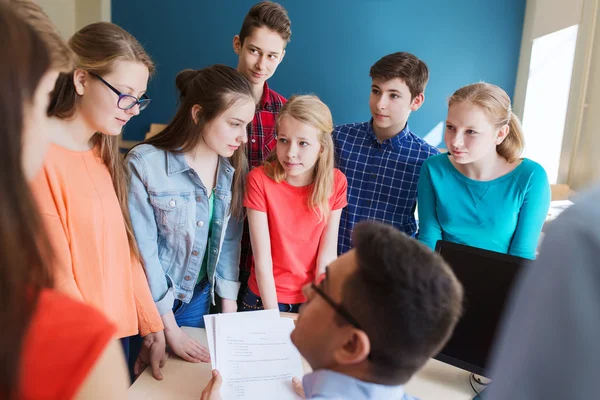
[{"label": "front printed white sheet held by the seated man in glasses", "polygon": [[223,377],[222,398],[297,400],[292,378],[304,372],[290,340],[293,329],[288,318],[217,319],[216,366]]}]

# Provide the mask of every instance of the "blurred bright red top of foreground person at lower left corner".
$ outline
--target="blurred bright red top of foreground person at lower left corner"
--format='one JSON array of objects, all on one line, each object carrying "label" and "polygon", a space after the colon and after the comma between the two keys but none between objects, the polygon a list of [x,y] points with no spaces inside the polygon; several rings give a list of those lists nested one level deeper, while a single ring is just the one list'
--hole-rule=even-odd
[{"label": "blurred bright red top of foreground person at lower left corner", "polygon": [[23,341],[19,398],[72,398],[115,331],[93,308],[43,290]]}]

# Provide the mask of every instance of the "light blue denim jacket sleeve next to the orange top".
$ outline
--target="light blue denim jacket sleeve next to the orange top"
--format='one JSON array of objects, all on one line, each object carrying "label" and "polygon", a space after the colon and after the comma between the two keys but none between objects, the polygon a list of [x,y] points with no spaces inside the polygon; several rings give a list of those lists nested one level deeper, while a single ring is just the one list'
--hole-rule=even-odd
[{"label": "light blue denim jacket sleeve next to the orange top", "polygon": [[[159,314],[164,315],[173,308],[175,297],[169,288],[167,277],[158,259],[158,227],[144,183],[144,164],[135,154],[131,153],[127,156],[126,164],[129,170],[127,198],[129,214],[143,268],[146,271],[145,284],[150,286],[150,292]],[[134,279],[137,278],[134,277]]]}]

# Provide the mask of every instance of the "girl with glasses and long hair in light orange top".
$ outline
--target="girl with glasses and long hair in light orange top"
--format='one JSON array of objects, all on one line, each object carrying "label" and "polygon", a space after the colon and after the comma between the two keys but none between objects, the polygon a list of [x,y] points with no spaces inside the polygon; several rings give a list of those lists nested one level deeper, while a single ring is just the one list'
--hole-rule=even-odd
[{"label": "girl with glasses and long hair in light orange top", "polygon": [[126,357],[129,337],[138,332],[164,354],[163,324],[139,261],[117,144],[127,121],[150,103],[145,92],[154,66],[138,41],[111,23],[82,28],[69,45],[77,65],[53,92],[49,113],[58,129],[33,183],[56,254],[56,288],[113,321]]}]

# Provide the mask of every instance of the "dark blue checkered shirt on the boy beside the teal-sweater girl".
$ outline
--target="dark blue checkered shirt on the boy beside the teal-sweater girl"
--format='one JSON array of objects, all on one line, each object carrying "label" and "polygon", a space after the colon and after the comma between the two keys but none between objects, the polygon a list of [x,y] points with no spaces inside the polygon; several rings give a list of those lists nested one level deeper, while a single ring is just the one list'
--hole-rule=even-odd
[{"label": "dark blue checkered shirt on the boy beside the teal-sweater girl", "polygon": [[414,236],[421,165],[439,154],[438,149],[412,133],[408,124],[398,135],[379,143],[372,120],[336,126],[333,141],[337,167],[348,179],[339,254],[351,249],[352,229],[362,220],[383,221]]}]

